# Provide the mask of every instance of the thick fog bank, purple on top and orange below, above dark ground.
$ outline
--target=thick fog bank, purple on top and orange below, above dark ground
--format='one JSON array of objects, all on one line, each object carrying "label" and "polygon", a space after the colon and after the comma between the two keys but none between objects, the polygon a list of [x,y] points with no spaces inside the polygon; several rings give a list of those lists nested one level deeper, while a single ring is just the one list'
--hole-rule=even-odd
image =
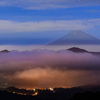
[{"label": "thick fog bank, purple on top and orange below, above dark ground", "polygon": [[[100,58],[67,50],[0,53],[0,86],[71,87],[100,82]],[[99,84],[99,83],[98,83]]]}]

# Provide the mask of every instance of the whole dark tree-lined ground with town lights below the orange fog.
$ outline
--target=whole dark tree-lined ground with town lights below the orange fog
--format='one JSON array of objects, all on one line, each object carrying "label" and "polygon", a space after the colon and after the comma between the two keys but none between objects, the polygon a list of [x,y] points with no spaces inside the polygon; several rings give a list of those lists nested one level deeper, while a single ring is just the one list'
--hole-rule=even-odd
[{"label": "whole dark tree-lined ground with town lights below the orange fog", "polygon": [[[100,86],[54,88],[53,91],[37,89],[38,95],[32,96],[32,91],[29,93],[25,89],[9,87],[5,90],[0,90],[0,100],[100,100],[99,91]],[[25,93],[28,94],[24,95]]]}]

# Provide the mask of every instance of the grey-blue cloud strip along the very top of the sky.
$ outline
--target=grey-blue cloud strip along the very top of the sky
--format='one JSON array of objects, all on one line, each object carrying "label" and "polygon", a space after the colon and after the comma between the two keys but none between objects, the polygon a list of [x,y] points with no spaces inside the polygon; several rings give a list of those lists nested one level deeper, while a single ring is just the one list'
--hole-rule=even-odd
[{"label": "grey-blue cloud strip along the very top of the sky", "polygon": [[15,6],[25,9],[57,9],[100,5],[100,0],[1,0],[1,6]]}]

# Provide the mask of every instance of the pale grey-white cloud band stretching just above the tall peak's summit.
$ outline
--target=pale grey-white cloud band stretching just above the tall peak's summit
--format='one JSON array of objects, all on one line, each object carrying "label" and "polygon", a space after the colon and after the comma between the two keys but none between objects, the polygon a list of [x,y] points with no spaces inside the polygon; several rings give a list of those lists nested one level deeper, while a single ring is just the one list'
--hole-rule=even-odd
[{"label": "pale grey-white cloud band stretching just above the tall peak's summit", "polygon": [[0,20],[1,33],[86,30],[96,28],[97,26],[100,26],[100,18],[88,20],[51,20],[40,22],[14,22],[9,20]]}]

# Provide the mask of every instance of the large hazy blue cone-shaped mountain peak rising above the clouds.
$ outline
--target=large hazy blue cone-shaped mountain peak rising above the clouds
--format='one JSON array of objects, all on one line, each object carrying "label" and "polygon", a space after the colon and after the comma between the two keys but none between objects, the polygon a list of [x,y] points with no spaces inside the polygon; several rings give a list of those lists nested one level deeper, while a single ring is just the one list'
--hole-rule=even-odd
[{"label": "large hazy blue cone-shaped mountain peak rising above the clouds", "polygon": [[81,44],[100,44],[96,37],[81,30],[71,31],[62,38],[50,43],[49,45],[81,45]]}]

